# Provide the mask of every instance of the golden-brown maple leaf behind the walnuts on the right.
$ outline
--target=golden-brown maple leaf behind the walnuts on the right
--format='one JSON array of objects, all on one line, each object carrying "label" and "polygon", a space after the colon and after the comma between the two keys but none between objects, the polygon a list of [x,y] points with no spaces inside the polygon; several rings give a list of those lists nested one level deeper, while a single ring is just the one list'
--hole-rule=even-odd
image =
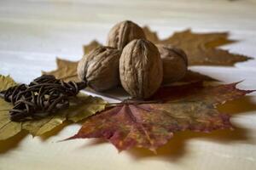
[{"label": "golden-brown maple leaf behind the walnuts on the right", "polygon": [[175,32],[172,37],[160,39],[157,33],[148,26],[143,28],[149,41],[162,44],[172,44],[182,48],[188,55],[189,65],[234,65],[236,62],[252,59],[241,54],[231,54],[229,51],[218,48],[229,44],[228,32],[194,33],[190,30]]}]

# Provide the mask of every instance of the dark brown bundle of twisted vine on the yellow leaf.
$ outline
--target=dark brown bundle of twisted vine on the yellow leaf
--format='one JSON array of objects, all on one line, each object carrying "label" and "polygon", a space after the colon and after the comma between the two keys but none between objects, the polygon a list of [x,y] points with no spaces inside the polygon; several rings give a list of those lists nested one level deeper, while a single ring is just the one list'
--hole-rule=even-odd
[{"label": "dark brown bundle of twisted vine on the yellow leaf", "polygon": [[43,75],[29,85],[20,84],[3,92],[3,98],[14,105],[9,111],[15,122],[38,119],[69,105],[68,97],[75,96],[86,82],[63,82],[54,76]]}]

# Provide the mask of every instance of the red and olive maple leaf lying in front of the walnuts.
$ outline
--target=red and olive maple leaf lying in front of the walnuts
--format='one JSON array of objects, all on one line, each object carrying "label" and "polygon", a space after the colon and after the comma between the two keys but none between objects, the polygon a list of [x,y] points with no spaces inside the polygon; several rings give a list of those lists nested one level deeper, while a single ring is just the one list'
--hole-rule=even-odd
[{"label": "red and olive maple leaf lying in front of the walnuts", "polygon": [[117,105],[91,116],[69,139],[102,138],[118,150],[143,147],[155,151],[177,131],[207,133],[232,128],[230,116],[218,112],[217,105],[251,92],[236,88],[236,83],[204,88],[196,82],[162,88],[154,99],[166,99],[165,103]]}]

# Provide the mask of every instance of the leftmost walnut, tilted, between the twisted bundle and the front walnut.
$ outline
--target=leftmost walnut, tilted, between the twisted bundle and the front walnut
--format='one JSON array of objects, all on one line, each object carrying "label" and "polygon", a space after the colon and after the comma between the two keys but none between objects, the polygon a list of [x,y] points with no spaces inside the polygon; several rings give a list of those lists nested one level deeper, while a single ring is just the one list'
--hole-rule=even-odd
[{"label": "leftmost walnut, tilted, between the twisted bundle and the front walnut", "polygon": [[96,91],[108,90],[119,84],[119,57],[121,52],[110,47],[99,47],[79,61],[78,75]]}]

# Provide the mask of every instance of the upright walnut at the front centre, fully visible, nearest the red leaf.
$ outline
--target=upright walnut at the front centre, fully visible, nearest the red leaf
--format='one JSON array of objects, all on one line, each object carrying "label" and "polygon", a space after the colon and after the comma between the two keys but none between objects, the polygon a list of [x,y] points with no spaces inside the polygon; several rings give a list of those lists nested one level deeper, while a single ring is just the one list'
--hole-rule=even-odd
[{"label": "upright walnut at the front centre, fully visible, nearest the red leaf", "polygon": [[123,88],[137,99],[147,99],[160,88],[163,78],[160,53],[152,42],[143,39],[128,43],[119,61]]}]

